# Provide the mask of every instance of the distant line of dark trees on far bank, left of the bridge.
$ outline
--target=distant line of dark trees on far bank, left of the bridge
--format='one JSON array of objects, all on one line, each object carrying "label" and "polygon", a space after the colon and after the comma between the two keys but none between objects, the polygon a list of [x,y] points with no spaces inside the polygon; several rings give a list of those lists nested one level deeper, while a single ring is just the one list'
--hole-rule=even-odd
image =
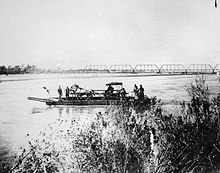
[{"label": "distant line of dark trees on far bank, left of the bridge", "polygon": [[0,75],[8,74],[33,74],[33,73],[77,73],[82,70],[61,70],[57,69],[42,69],[37,68],[35,65],[1,65],[0,66]]}]

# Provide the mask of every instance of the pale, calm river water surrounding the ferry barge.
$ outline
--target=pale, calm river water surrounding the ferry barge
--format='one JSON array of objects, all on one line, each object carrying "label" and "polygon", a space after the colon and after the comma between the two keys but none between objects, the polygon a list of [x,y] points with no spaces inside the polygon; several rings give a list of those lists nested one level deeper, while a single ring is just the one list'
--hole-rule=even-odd
[{"label": "pale, calm river water surrounding the ferry barge", "polygon": [[[47,98],[57,96],[57,88],[78,84],[86,89],[106,89],[108,82],[123,82],[127,92],[134,84],[143,85],[145,94],[162,100],[188,100],[185,85],[195,80],[189,76],[137,76],[108,74],[38,74],[0,76],[0,161],[26,145],[27,138],[37,138],[39,131],[47,124],[63,116],[76,116],[80,121],[89,121],[100,106],[47,106],[44,103],[27,100],[28,96]],[[216,75],[205,76],[213,93],[219,92]],[[48,94],[43,87],[50,90]]]}]

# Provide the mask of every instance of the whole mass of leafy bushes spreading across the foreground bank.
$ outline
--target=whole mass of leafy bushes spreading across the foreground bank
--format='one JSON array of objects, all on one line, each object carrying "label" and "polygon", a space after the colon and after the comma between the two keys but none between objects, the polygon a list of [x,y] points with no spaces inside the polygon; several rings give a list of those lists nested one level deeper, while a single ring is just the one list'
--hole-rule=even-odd
[{"label": "whole mass of leafy bushes spreading across the foreground bank", "polygon": [[[31,140],[14,172],[211,172],[220,163],[219,105],[205,80],[186,90],[191,101],[175,111],[152,105],[110,106],[82,127],[58,120]],[[143,110],[144,107],[144,110]]]}]

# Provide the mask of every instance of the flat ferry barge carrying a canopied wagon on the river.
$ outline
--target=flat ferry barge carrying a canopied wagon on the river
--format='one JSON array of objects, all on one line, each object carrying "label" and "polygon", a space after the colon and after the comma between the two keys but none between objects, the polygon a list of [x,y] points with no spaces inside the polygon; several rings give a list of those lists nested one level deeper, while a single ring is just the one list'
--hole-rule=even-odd
[{"label": "flat ferry barge carrying a canopied wagon on the river", "polygon": [[75,84],[69,89],[66,97],[28,97],[28,99],[45,102],[50,106],[118,105],[122,101],[132,102],[134,100],[133,96],[128,96],[121,82],[111,82],[106,84],[106,86],[108,86],[107,90],[86,90]]}]

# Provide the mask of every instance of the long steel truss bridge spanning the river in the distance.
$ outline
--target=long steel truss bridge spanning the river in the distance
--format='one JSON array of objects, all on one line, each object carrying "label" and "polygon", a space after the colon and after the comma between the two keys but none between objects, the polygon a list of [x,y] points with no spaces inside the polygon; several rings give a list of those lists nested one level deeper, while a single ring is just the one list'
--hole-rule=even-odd
[{"label": "long steel truss bridge spanning the river in the distance", "polygon": [[215,74],[220,72],[220,64],[190,64],[185,67],[183,64],[163,64],[158,67],[156,64],[137,64],[132,67],[129,64],[114,64],[109,68],[106,65],[87,65],[84,73],[143,73],[143,74]]}]

